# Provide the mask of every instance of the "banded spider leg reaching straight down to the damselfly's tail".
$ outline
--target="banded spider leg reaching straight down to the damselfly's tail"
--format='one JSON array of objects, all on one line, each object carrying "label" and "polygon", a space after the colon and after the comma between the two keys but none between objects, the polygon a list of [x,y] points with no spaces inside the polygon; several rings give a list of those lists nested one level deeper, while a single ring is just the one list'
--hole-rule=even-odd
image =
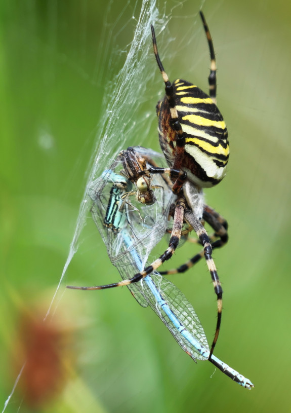
[{"label": "banded spider leg reaching straight down to the damselfly's tail", "polygon": [[211,357],[213,354],[217,339],[218,339],[220,325],[221,325],[222,287],[221,287],[221,284],[218,278],[214,260],[212,258],[212,245],[211,245],[209,236],[206,233],[205,228],[203,227],[199,219],[192,212],[185,211],[184,217],[185,217],[185,220],[193,227],[201,244],[203,245],[204,257],[205,257],[209,272],[211,274],[212,282],[214,285],[214,291],[217,295],[217,323],[216,323],[216,331],[215,331],[214,339],[213,339],[211,350],[210,350],[210,357]]}]

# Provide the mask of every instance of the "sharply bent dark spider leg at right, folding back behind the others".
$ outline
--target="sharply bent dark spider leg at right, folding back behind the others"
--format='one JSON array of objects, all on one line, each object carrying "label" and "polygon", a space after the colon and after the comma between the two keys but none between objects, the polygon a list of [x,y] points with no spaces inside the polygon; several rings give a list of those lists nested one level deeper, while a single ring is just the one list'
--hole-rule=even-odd
[{"label": "sharply bent dark spider leg at right, folding back behind the others", "polygon": [[[210,224],[210,226],[214,229],[215,233],[209,236],[211,241],[212,250],[215,248],[223,247],[228,241],[228,234],[227,234],[227,221],[218,214],[213,208],[209,207],[208,205],[204,205],[203,210],[203,219]],[[219,239],[217,239],[219,238]],[[188,239],[188,242],[193,242],[195,244],[201,244],[201,241],[197,238]],[[173,275],[173,274],[181,274],[188,271],[192,268],[197,262],[203,257],[204,249],[199,251],[196,255],[189,259],[189,261],[185,262],[185,264],[181,265],[180,267],[168,270],[168,271],[160,271],[161,275]]]}]

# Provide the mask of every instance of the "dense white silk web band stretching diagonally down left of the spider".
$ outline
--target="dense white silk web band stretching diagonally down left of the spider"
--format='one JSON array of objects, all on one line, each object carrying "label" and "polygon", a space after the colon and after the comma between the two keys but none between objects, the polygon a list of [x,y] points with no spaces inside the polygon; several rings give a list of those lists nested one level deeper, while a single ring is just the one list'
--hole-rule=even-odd
[{"label": "dense white silk web band stretching diagonally down left of the spider", "polygon": [[[169,50],[171,46],[167,45],[167,43],[172,43],[174,39],[170,37],[168,23],[171,19],[177,19],[178,21],[185,20],[185,17],[179,16],[179,13],[176,15],[176,12],[178,10],[181,13],[183,5],[187,5],[187,3],[189,3],[187,0],[179,2],[176,7],[167,10],[166,5],[163,5],[158,0],[143,0],[141,2],[139,14],[138,5],[140,2],[136,2],[135,7],[130,9],[134,14],[131,17],[132,21],[128,21],[127,25],[132,24],[132,22],[134,23],[132,24],[134,27],[133,39],[130,45],[127,46],[128,51],[126,52],[126,59],[121,69],[116,76],[114,76],[113,80],[108,80],[108,87],[106,87],[106,93],[104,94],[102,102],[102,107],[105,109],[100,115],[100,122],[97,127],[98,134],[96,136],[96,145],[90,162],[91,168],[89,169],[83,196],[84,201],[80,204],[68,258],[46,317],[48,317],[52,310],[63,277],[78,249],[79,237],[84,228],[86,217],[88,216],[88,211],[90,209],[90,203],[87,203],[87,199],[92,182],[114,161],[121,149],[124,149],[129,145],[147,146],[150,131],[153,129],[152,123],[153,121],[156,121],[155,116],[153,116],[155,114],[153,114],[152,110],[152,100],[155,102],[155,98],[152,99],[153,89],[149,88],[149,85],[158,85],[158,88],[160,89],[158,96],[163,96],[164,88],[163,83],[161,82],[161,77],[158,76],[158,70],[152,70],[152,65],[154,64],[155,66],[155,61],[152,53],[150,25],[154,24],[156,35],[159,36],[159,43],[163,45],[163,49]],[[203,3],[204,0],[197,1],[197,13],[187,16],[187,19],[191,21],[192,26],[190,26],[188,32],[185,31],[184,35],[179,39],[179,49],[183,49],[188,43],[193,42],[193,25],[197,21],[198,10],[202,8]],[[112,7],[113,1],[108,5],[107,15],[110,14]],[[129,7],[130,2],[127,3],[126,10],[124,10],[123,13],[128,11],[127,8]],[[138,17],[136,17],[136,14],[138,14]],[[104,26],[106,27],[106,25],[107,23],[105,21]],[[118,39],[118,34],[115,34],[114,29],[111,27],[110,31],[111,42],[113,44]],[[119,32],[119,30],[117,31]],[[108,43],[109,40],[106,33],[104,33],[103,37],[106,39],[106,43]],[[101,42],[100,48],[101,56],[102,53],[105,53],[100,60],[106,61],[108,56],[106,55],[107,47],[104,44],[104,41]],[[117,54],[120,56],[124,54],[124,51],[120,53],[120,50],[118,49]],[[149,58],[149,56],[152,56],[152,58]],[[196,64],[198,64],[197,61]],[[109,59],[108,65],[108,71],[110,72],[112,69],[112,57]],[[104,65],[98,67],[95,73],[97,79],[103,79],[103,70]],[[144,103],[148,101],[151,102],[150,111],[147,109],[143,110]],[[138,119],[139,122],[136,122],[135,119]],[[157,134],[156,125],[154,134]],[[150,249],[148,250],[147,256],[149,253]]]}]

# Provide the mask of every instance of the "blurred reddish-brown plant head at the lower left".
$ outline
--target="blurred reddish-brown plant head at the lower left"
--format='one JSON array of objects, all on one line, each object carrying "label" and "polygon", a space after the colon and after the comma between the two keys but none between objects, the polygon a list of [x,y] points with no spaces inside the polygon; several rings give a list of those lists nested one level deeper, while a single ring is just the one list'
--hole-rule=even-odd
[{"label": "blurred reddish-brown plant head at the lower left", "polygon": [[[55,317],[56,318],[56,317]],[[71,358],[70,333],[60,324],[37,315],[22,317],[16,344],[16,367],[24,369],[18,385],[23,402],[40,409],[61,393]]]}]

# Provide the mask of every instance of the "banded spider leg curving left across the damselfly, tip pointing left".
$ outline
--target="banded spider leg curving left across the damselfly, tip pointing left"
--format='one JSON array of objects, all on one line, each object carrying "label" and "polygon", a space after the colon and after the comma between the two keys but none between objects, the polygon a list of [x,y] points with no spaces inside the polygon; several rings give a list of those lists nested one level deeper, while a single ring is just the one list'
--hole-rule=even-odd
[{"label": "banded spider leg curving left across the damselfly, tip pointing left", "polygon": [[112,283],[112,284],[98,285],[98,286],[93,286],[93,287],[77,287],[77,286],[67,285],[67,288],[77,289],[77,290],[103,290],[106,288],[121,287],[123,285],[129,285],[129,284],[138,282],[142,280],[143,278],[145,278],[150,273],[152,273],[153,271],[157,270],[158,267],[160,267],[164,261],[167,261],[168,259],[172,257],[172,255],[174,254],[179,244],[179,241],[181,238],[181,230],[182,230],[183,221],[184,221],[185,208],[186,208],[186,205],[185,205],[184,198],[179,198],[176,201],[173,230],[172,230],[172,235],[171,235],[170,242],[169,242],[169,247],[167,248],[167,250],[164,251],[162,255],[159,256],[159,258],[153,261],[152,264],[146,267],[143,271],[135,274],[132,278],[128,280],[122,280],[122,281]]}]

